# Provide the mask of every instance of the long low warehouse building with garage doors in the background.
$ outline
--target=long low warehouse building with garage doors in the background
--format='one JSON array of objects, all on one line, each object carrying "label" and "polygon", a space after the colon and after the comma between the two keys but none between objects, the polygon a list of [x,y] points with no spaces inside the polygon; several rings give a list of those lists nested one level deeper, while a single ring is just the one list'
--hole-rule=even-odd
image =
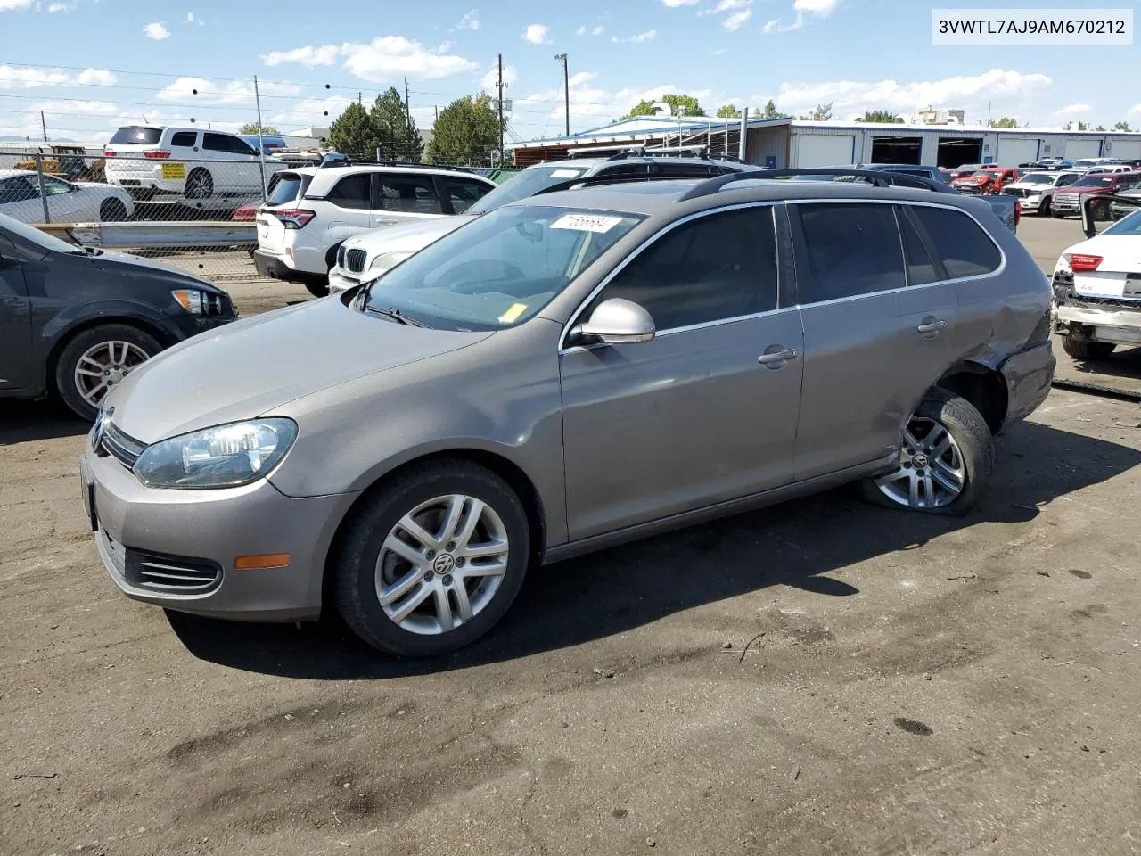
[{"label": "long low warehouse building with garage doors in the background", "polygon": [[[567,156],[613,155],[631,147],[677,154],[701,148],[736,156],[742,131],[739,120],[634,116],[569,137],[512,143],[507,150],[520,167]],[[849,163],[1017,167],[1043,158],[1141,159],[1141,134],[1123,131],[751,119],[744,138],[744,160],[769,169]]]}]

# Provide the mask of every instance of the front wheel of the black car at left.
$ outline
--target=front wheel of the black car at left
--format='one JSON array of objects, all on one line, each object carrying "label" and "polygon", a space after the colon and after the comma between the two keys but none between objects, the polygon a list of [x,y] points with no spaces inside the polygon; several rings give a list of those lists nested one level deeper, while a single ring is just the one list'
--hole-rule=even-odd
[{"label": "front wheel of the black car at left", "polygon": [[59,354],[56,389],[76,415],[94,421],[107,393],[160,350],[153,336],[128,324],[84,330]]}]

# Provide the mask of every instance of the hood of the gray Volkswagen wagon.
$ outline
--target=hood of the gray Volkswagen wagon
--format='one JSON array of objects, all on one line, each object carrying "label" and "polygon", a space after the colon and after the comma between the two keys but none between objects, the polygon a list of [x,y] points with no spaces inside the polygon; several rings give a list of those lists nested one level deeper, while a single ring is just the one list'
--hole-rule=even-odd
[{"label": "hood of the gray Volkswagen wagon", "polygon": [[131,372],[107,397],[143,443],[270,415],[354,378],[474,345],[489,332],[426,330],[311,300],[200,333]]}]

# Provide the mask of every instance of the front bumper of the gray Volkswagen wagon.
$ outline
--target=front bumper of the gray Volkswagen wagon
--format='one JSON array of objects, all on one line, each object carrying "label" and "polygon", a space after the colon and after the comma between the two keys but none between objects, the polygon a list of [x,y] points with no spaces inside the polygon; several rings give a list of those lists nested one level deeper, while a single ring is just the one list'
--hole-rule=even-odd
[{"label": "front bumper of the gray Volkswagen wagon", "polygon": [[[240,621],[304,621],[321,614],[329,547],[358,495],[296,499],[266,479],[224,490],[146,487],[115,458],[97,454],[90,438],[80,479],[99,556],[124,595]],[[238,556],[272,552],[288,552],[289,564],[234,570]],[[160,581],[176,584],[140,579],[140,564],[157,567]],[[186,567],[217,568],[217,578],[205,586],[177,582]]]}]

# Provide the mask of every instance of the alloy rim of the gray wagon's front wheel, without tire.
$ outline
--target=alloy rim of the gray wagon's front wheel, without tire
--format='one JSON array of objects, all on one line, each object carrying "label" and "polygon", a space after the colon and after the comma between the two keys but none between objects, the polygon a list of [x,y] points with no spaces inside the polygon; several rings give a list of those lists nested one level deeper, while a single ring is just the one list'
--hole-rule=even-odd
[{"label": "alloy rim of the gray wagon's front wheel, without tire", "polygon": [[428,500],[389,531],[377,557],[377,598],[414,633],[446,633],[495,597],[509,556],[507,526],[491,506],[451,494]]}]

